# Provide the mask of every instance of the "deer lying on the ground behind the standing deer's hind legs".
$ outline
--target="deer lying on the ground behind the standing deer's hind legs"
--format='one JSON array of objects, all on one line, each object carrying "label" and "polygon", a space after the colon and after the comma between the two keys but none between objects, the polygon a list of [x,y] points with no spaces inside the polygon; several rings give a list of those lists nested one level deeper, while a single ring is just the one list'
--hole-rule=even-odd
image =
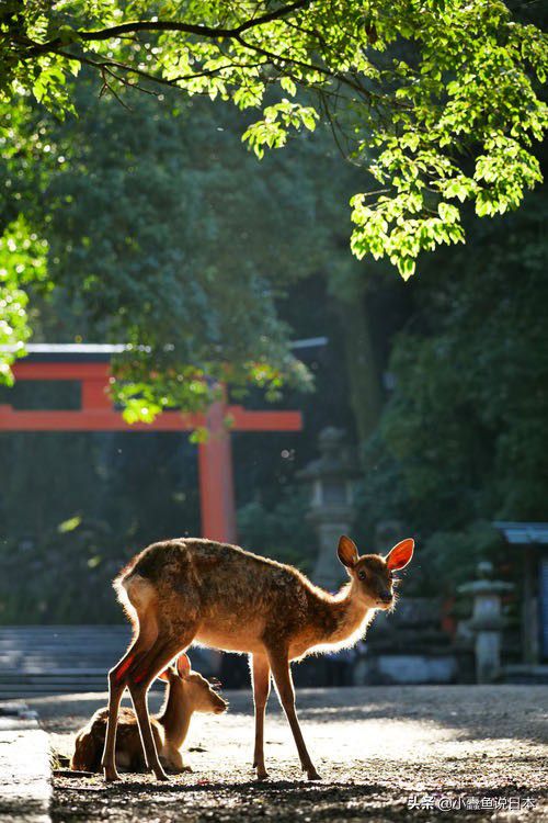
[{"label": "deer lying on the ground behind the standing deer's hind legs", "polygon": [[[160,713],[152,721],[152,734],[161,763],[170,771],[192,771],[181,755],[191,718],[195,711],[220,714],[227,703],[212,684],[191,669],[191,662],[182,654],[174,666],[165,668],[159,677],[165,680],[165,698]],[[78,732],[75,754],[70,760],[73,770],[99,771],[103,753],[109,709],[98,709],[87,725]],[[118,714],[116,764],[130,771],[142,771],[146,762],[139,728],[132,709],[122,708]]]}]

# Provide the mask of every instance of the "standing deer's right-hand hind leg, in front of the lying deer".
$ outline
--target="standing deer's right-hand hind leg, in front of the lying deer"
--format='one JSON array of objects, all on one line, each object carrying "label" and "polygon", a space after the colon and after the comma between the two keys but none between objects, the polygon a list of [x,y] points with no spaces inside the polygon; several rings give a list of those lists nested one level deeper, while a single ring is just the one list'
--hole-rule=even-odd
[{"label": "standing deer's right-hand hind leg, in front of the lying deer", "polygon": [[192,638],[193,634],[190,634],[185,640],[174,638],[163,640],[159,638],[152,649],[147,652],[135,669],[133,669],[128,680],[129,695],[132,696],[139,726],[145,758],[148,767],[152,769],[158,780],[168,780],[168,775],[163,770],[158,757],[156,741],[150,725],[150,715],[148,713],[147,694],[152,680],[179,652],[186,649]]}]

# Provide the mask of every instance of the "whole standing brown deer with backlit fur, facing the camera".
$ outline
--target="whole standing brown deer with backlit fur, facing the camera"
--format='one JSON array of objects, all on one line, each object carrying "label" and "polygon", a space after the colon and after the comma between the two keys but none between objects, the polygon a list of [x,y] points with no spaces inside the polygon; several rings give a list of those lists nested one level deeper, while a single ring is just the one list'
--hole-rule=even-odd
[{"label": "whole standing brown deer with backlit fur, facing the camera", "polygon": [[413,540],[408,539],[386,557],[359,556],[354,542],[341,537],[338,554],[350,583],[336,595],[318,588],[292,566],[210,540],[169,540],[137,554],[114,582],[135,636],[109,673],[109,723],[102,759],[105,779],[118,779],[116,723],[126,686],[148,767],[158,779],[168,779],[150,728],[147,691],[158,672],[193,641],[251,655],[258,778],[267,777],[263,729],[272,673],[302,770],[310,780],[319,779],[295,710],[289,662],[310,651],[350,646],[362,638],[375,611],[392,607],[392,573],[407,566],[413,546]]}]

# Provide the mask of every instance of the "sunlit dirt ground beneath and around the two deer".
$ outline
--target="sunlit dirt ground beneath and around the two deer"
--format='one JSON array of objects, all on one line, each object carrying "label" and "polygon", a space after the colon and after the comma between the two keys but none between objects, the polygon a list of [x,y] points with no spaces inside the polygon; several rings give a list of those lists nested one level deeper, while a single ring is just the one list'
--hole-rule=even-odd
[{"label": "sunlit dirt ground beneath and around the two deer", "polygon": [[[548,821],[548,688],[543,686],[310,689],[298,708],[321,782],[299,771],[293,739],[271,697],[271,779],[251,769],[250,694],[229,712],[195,715],[185,744],[194,774],[156,782],[125,775],[55,778],[52,819],[76,821]],[[57,755],[105,695],[31,702]],[[158,696],[151,697],[153,706]]]}]

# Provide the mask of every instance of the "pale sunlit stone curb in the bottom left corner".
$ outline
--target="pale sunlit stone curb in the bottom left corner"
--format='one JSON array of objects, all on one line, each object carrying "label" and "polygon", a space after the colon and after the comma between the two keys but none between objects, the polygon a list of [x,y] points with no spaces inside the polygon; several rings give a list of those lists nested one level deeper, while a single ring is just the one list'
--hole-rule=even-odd
[{"label": "pale sunlit stone curb in the bottom left corner", "polygon": [[25,703],[0,702],[0,822],[50,823],[49,741]]}]

